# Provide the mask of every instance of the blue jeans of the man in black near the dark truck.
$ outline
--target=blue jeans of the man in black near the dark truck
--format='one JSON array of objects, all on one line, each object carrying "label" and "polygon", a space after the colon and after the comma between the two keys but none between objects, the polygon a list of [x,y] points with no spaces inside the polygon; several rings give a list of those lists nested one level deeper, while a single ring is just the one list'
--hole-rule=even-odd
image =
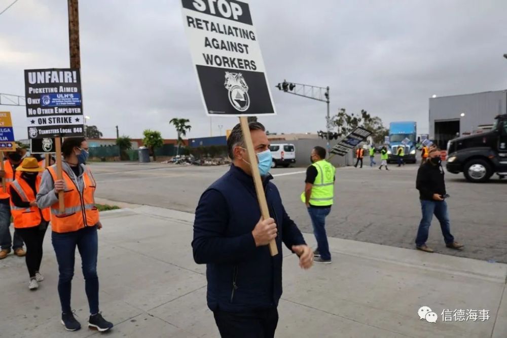
[{"label": "blue jeans of the man in black near the dark truck", "polygon": [[444,235],[445,243],[451,244],[454,242],[454,237],[451,235],[451,222],[449,221],[449,212],[447,211],[446,201],[421,200],[421,209],[422,219],[419,223],[419,230],[417,231],[415,244],[417,246],[426,244],[433,214],[437,216],[437,219],[440,221],[440,228],[442,229],[442,235]]}]

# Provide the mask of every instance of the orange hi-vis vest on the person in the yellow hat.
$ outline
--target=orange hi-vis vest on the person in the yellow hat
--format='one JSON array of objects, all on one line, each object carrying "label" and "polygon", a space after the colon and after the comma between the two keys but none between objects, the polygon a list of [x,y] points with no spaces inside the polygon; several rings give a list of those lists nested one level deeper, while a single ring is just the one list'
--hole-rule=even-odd
[{"label": "orange hi-vis vest on the person in the yellow hat", "polygon": [[[37,176],[37,179],[35,180],[35,189],[37,192],[39,192],[39,186],[41,186],[41,177]],[[18,193],[23,202],[30,203],[32,201],[35,201],[35,194],[33,194],[33,190],[22,177],[16,178],[16,180],[12,182],[11,187]],[[37,227],[39,224],[41,224],[42,218],[48,222],[51,218],[51,211],[49,208],[42,210],[39,209],[39,207],[20,208],[12,203],[12,199],[11,213],[12,217],[14,218],[14,228],[16,229]]]}]

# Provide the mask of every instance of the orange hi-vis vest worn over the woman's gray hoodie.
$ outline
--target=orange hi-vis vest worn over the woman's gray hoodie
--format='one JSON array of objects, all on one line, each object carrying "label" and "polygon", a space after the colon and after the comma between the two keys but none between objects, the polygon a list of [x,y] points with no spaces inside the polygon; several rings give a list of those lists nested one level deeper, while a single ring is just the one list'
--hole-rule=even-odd
[{"label": "orange hi-vis vest worn over the woman's gray hoodie", "polygon": [[[57,180],[55,166],[48,167],[47,170],[53,180]],[[63,171],[63,180],[66,189],[63,193],[65,212],[60,212],[58,202],[51,206],[51,229],[55,233],[69,233],[95,226],[99,221],[98,209],[95,207],[93,197],[97,184],[91,172],[88,169],[83,172],[84,189],[82,192],[79,191],[78,186],[65,170]]]}]

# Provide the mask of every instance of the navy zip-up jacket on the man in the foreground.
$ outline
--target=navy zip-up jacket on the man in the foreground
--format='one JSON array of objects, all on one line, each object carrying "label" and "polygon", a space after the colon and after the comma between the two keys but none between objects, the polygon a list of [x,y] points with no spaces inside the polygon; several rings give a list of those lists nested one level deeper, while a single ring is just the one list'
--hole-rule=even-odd
[{"label": "navy zip-up jacket on the man in the foreground", "polygon": [[294,221],[283,208],[276,186],[264,180],[271,217],[278,227],[278,254],[256,247],[251,234],[261,218],[253,180],[231,166],[201,196],[195,212],[192,248],[197,264],[206,264],[207,303],[241,312],[276,307],[282,294],[282,246],[305,244]]}]

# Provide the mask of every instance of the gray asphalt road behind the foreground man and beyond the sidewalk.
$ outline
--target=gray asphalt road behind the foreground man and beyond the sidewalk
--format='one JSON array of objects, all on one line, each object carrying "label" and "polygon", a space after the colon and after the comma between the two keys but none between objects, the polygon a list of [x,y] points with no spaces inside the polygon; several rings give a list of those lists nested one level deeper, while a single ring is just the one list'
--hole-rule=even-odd
[{"label": "gray asphalt road behind the foreground man and beyond the sidewalk", "polygon": [[[417,165],[390,171],[370,168],[337,170],[335,205],[327,218],[328,236],[389,246],[413,248],[420,221],[415,189]],[[99,163],[91,168],[98,182],[97,197],[194,212],[201,193],[228,170],[221,167],[166,164]],[[273,169],[274,183],[285,209],[305,232],[312,227],[300,194],[301,168]],[[507,262],[507,180],[473,184],[463,176],[446,173],[451,232],[465,244],[461,251],[448,249],[433,219],[428,246],[437,252]]]}]

